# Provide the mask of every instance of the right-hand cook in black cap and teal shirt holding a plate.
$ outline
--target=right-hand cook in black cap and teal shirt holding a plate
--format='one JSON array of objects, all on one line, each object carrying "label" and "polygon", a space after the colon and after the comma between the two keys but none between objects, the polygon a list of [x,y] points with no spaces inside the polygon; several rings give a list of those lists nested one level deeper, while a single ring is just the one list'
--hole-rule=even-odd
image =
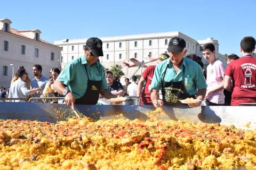
[{"label": "right-hand cook in black cap and teal shirt holding a plate", "polygon": [[[156,66],[151,82],[151,100],[155,107],[163,105],[179,106],[179,100],[188,97],[197,98],[200,102],[188,104],[190,107],[201,105],[206,93],[206,82],[201,67],[185,56],[186,41],[174,37],[168,45],[170,58]],[[163,100],[159,100],[158,91],[162,88]]]}]

